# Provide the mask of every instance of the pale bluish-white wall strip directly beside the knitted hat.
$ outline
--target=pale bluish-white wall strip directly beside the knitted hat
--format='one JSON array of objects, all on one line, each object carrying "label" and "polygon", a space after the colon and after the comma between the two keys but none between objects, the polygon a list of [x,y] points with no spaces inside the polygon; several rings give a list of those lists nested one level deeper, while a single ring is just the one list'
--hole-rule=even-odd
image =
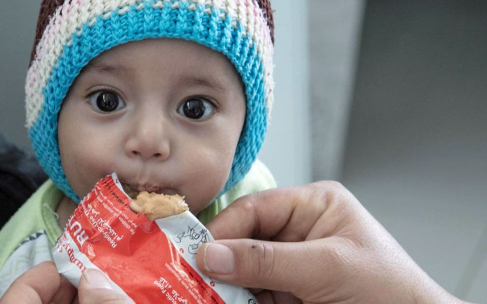
[{"label": "pale bluish-white wall strip directly beside the knitted hat", "polygon": [[309,182],[307,1],[274,0],[274,106],[259,158],[279,186]]}]

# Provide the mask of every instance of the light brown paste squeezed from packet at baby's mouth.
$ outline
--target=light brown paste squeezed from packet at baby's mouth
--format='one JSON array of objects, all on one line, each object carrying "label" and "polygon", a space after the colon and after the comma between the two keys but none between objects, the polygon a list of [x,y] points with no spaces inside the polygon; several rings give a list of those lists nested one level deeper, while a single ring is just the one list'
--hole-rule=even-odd
[{"label": "light brown paste squeezed from packet at baby's mouth", "polygon": [[186,202],[184,202],[184,196],[178,194],[157,194],[147,191],[138,193],[136,199],[132,199],[129,206],[135,212],[147,215],[151,221],[176,215],[189,209]]}]

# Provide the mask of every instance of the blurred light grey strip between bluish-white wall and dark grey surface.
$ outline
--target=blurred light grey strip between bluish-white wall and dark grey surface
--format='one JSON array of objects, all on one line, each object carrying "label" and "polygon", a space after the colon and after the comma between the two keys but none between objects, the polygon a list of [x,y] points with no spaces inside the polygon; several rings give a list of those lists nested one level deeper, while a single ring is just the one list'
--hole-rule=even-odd
[{"label": "blurred light grey strip between bluish-white wall and dark grey surface", "polygon": [[340,179],[365,0],[309,0],[312,178]]}]

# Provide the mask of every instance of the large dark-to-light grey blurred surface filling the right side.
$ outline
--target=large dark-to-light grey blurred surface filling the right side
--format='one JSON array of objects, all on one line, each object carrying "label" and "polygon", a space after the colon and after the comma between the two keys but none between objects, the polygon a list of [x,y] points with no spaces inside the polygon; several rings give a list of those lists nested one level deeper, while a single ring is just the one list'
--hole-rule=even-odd
[{"label": "large dark-to-light grey blurred surface filling the right side", "polygon": [[342,182],[440,285],[487,302],[487,1],[368,1]]}]

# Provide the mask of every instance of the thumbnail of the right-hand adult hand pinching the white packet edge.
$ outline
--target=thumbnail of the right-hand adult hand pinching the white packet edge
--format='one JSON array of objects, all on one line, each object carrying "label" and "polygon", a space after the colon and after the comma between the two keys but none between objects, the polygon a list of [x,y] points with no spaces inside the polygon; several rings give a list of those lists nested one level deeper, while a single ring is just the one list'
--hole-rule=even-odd
[{"label": "thumbnail of the right-hand adult hand pinching the white packet edge", "polygon": [[204,268],[218,274],[232,273],[235,268],[233,251],[219,243],[207,243],[204,246]]}]

